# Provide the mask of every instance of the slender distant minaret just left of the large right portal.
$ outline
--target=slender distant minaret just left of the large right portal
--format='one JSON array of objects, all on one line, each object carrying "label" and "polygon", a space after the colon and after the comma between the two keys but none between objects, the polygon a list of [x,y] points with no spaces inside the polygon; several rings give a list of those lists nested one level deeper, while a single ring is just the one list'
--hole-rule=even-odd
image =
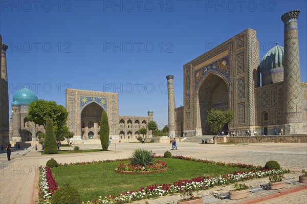
[{"label": "slender distant minaret just left of the large right portal", "polygon": [[173,75],[167,75],[167,98],[168,98],[168,137],[175,137],[175,96]]}]

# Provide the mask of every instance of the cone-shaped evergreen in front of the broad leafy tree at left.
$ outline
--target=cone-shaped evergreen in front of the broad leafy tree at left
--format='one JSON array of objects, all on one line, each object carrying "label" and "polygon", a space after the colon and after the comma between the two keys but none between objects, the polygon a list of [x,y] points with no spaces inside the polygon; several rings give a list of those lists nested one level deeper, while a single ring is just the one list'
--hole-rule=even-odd
[{"label": "cone-shaped evergreen in front of the broad leafy tree at left", "polygon": [[46,120],[46,133],[45,133],[45,149],[43,153],[45,154],[57,154],[57,144],[53,131],[53,122],[52,119]]}]

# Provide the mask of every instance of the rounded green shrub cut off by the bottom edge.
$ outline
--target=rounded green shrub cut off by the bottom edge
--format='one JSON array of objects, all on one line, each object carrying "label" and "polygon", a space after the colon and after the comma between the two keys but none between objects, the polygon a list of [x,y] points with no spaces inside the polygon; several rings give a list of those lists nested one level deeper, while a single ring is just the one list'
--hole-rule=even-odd
[{"label": "rounded green shrub cut off by the bottom edge", "polygon": [[51,196],[51,204],[75,204],[81,202],[78,191],[68,184],[60,187]]}]

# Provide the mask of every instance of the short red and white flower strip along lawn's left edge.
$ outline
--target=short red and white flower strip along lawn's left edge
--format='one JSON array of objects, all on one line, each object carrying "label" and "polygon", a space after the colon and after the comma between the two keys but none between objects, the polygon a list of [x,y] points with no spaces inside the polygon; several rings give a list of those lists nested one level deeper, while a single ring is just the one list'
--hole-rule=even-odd
[{"label": "short red and white flower strip along lawn's left edge", "polygon": [[58,188],[49,167],[40,167],[39,198],[43,203],[49,203],[52,194]]}]

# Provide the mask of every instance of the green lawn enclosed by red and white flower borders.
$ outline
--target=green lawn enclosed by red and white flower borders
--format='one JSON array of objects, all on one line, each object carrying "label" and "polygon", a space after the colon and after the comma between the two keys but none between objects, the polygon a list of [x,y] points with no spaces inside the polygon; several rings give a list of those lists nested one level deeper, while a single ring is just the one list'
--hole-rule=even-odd
[{"label": "green lawn enclosed by red and white flower borders", "polygon": [[53,168],[52,172],[58,186],[69,183],[78,190],[81,199],[86,201],[99,196],[118,195],[141,187],[146,188],[151,184],[172,184],[181,179],[248,170],[175,158],[160,158],[160,160],[168,164],[168,170],[146,175],[115,173],[114,169],[119,162],[57,167]]}]

